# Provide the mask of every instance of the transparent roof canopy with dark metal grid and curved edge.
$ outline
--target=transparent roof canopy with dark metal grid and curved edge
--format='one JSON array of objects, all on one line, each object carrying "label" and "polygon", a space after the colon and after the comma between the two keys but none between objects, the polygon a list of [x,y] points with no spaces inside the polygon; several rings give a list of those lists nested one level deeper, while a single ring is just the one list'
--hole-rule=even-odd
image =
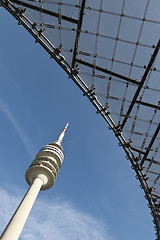
[{"label": "transparent roof canopy with dark metal grid and curved edge", "polygon": [[136,172],[160,238],[160,1],[0,0],[96,107]]}]

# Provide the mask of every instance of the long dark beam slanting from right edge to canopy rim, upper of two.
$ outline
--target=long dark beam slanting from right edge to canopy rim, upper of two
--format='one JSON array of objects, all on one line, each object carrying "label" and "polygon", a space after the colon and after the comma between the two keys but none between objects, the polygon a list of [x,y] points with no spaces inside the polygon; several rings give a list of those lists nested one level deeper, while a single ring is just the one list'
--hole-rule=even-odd
[{"label": "long dark beam slanting from right edge to canopy rim, upper of two", "polygon": [[132,108],[133,108],[133,106],[134,106],[134,104],[135,104],[135,102],[136,102],[136,100],[138,98],[138,95],[139,95],[139,93],[140,93],[140,91],[141,91],[141,89],[143,87],[143,84],[144,84],[144,82],[145,82],[145,80],[146,80],[146,78],[148,76],[148,73],[151,70],[152,64],[153,64],[153,62],[154,62],[154,60],[155,60],[155,58],[156,58],[156,56],[158,54],[159,48],[160,48],[160,40],[157,43],[157,46],[156,46],[156,48],[155,48],[155,50],[154,50],[154,52],[152,54],[152,57],[151,57],[151,59],[150,59],[150,61],[148,63],[148,66],[147,66],[147,68],[146,68],[146,70],[144,72],[144,75],[143,75],[143,77],[141,79],[141,82],[140,82],[140,84],[139,84],[139,86],[137,88],[137,91],[136,91],[136,93],[135,93],[135,95],[134,95],[134,97],[132,99],[132,102],[131,102],[129,108],[128,108],[128,111],[126,113],[126,117],[124,118],[124,120],[123,120],[123,122],[121,124],[121,130],[123,129],[125,123],[127,122],[128,116],[130,115],[130,113],[132,111]]}]

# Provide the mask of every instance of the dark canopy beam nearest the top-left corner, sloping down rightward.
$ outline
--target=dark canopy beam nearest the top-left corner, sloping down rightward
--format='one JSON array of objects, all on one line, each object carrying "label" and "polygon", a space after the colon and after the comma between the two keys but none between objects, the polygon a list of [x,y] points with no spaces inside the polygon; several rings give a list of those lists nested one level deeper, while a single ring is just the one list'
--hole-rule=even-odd
[{"label": "dark canopy beam nearest the top-left corner, sloping down rightward", "polygon": [[[23,6],[23,7],[33,9],[33,10],[38,11],[38,12],[42,12],[44,14],[47,14],[47,15],[50,15],[50,16],[53,16],[53,17],[56,17],[56,18],[59,17],[58,13],[52,12],[52,11],[47,10],[45,8],[37,7],[35,5],[29,4],[29,3],[26,3],[26,2],[22,2],[22,1],[19,1],[19,0],[11,0],[11,2],[16,3],[16,4],[18,4],[20,6]],[[73,19],[73,18],[64,16],[64,15],[61,15],[61,18],[65,21],[68,21],[68,22],[72,22],[72,23],[76,23],[76,24],[78,23],[77,19]]]}]

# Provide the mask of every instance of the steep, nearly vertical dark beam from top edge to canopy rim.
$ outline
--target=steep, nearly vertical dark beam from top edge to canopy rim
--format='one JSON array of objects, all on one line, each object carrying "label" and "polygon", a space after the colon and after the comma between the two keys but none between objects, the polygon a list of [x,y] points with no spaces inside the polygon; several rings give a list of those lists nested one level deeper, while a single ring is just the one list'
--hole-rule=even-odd
[{"label": "steep, nearly vertical dark beam from top edge to canopy rim", "polygon": [[74,66],[75,66],[75,60],[76,60],[76,56],[77,56],[77,52],[78,52],[78,44],[79,44],[79,38],[80,38],[81,27],[82,27],[82,22],[83,22],[85,5],[86,5],[86,0],[83,0],[82,5],[81,5],[80,15],[79,15],[79,21],[78,21],[78,25],[77,25],[77,33],[76,33],[74,52],[73,52],[73,58],[72,58],[72,68],[74,68]]}]

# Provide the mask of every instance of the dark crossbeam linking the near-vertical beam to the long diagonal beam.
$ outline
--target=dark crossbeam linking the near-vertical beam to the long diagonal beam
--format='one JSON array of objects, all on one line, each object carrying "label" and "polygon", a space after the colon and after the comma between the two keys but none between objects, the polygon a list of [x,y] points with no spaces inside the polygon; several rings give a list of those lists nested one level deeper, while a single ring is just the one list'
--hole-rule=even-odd
[{"label": "dark crossbeam linking the near-vertical beam to the long diagonal beam", "polygon": [[120,75],[119,73],[115,73],[115,72],[109,71],[109,70],[104,69],[104,68],[99,67],[99,66],[94,66],[93,64],[88,63],[88,62],[85,62],[85,61],[80,60],[80,59],[76,59],[76,62],[78,62],[78,63],[80,63],[80,64],[83,64],[83,65],[85,65],[85,66],[87,66],[87,67],[90,67],[90,68],[95,68],[95,69],[97,69],[97,70],[100,71],[100,72],[107,73],[107,74],[112,75],[112,76],[114,76],[114,77],[123,79],[123,80],[125,80],[125,81],[127,81],[127,82],[130,82],[130,83],[134,83],[134,84],[136,84],[136,85],[139,85],[139,82],[138,82],[138,81],[136,81],[136,80],[134,80],[134,79],[131,79],[131,78],[128,78],[128,77],[126,77],[126,76]]}]

